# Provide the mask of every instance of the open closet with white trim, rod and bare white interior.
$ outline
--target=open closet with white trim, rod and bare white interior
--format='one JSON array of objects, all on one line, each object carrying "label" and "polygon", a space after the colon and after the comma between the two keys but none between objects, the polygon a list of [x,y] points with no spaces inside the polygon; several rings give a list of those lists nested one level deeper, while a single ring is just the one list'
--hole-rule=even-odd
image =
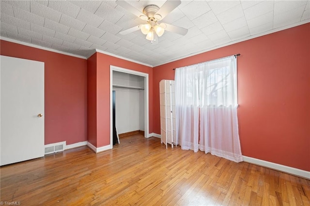
[{"label": "open closet with white trim, rod and bare white interior", "polygon": [[[149,137],[148,82],[149,76],[146,73],[110,66],[111,148],[113,141],[114,144],[118,142],[115,137],[115,129],[118,134],[144,131],[144,137]],[[120,144],[122,144],[122,140],[120,140]]]}]

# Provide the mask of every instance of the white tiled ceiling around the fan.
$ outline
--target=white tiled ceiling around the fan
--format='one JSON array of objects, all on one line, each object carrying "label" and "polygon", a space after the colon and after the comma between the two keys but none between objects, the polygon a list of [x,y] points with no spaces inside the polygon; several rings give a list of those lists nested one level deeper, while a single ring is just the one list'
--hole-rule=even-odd
[{"label": "white tiled ceiling around the fan", "polygon": [[[127,2],[142,11],[165,0]],[[98,49],[151,66],[310,22],[309,0],[182,0],[161,22],[188,33],[165,31],[153,45],[140,30],[119,34],[145,22],[115,0],[1,0],[0,7],[1,39],[85,58]]]}]

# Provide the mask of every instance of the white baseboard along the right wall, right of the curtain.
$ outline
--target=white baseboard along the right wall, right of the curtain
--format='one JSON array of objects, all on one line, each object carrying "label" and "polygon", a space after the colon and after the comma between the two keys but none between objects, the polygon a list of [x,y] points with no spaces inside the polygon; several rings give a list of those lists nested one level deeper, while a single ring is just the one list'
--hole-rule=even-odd
[{"label": "white baseboard along the right wall, right of the curtain", "polygon": [[305,170],[301,170],[301,169],[297,169],[294,167],[289,167],[289,166],[285,166],[282,164],[277,164],[277,163],[273,163],[273,162],[267,162],[264,160],[259,160],[259,159],[255,159],[252,157],[247,157],[247,156],[242,156],[243,157],[243,161],[244,162],[248,162],[248,163],[252,163],[252,164],[257,164],[263,167],[267,167],[270,169],[274,169],[274,170],[278,170],[281,172],[285,172],[285,173],[289,173],[295,176],[299,176],[299,177],[304,177],[306,179],[310,179],[310,172],[305,171]]}]

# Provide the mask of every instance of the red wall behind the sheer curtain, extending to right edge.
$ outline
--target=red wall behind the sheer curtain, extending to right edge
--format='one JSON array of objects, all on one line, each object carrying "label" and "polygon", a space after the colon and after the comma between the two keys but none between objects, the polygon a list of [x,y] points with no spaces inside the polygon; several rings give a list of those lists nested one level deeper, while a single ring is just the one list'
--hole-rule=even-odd
[{"label": "red wall behind the sheer curtain, extending to right edge", "polygon": [[238,121],[242,154],[310,171],[310,23],[157,66],[154,132],[160,133],[159,81],[173,68],[240,53]]}]

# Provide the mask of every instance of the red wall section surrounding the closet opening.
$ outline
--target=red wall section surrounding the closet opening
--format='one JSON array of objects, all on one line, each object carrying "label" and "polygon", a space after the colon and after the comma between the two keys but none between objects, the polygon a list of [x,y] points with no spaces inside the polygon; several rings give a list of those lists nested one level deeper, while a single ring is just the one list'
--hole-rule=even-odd
[{"label": "red wall section surrounding the closet opening", "polygon": [[[153,70],[151,67],[141,64],[118,59],[102,53],[96,53],[91,58],[96,59],[96,100],[88,105],[90,108],[96,108],[96,128],[90,129],[88,133],[96,133],[96,143],[92,143],[96,147],[103,147],[110,144],[110,65],[121,67],[124,69],[135,70],[149,74],[149,133],[153,132]],[[93,60],[92,60],[93,61]],[[88,68],[90,69],[90,68]],[[93,66],[91,68],[93,70]],[[90,79],[90,77],[88,77]],[[93,79],[93,77],[92,77]],[[92,89],[93,90],[93,89]],[[92,96],[92,98],[95,98]]]}]

